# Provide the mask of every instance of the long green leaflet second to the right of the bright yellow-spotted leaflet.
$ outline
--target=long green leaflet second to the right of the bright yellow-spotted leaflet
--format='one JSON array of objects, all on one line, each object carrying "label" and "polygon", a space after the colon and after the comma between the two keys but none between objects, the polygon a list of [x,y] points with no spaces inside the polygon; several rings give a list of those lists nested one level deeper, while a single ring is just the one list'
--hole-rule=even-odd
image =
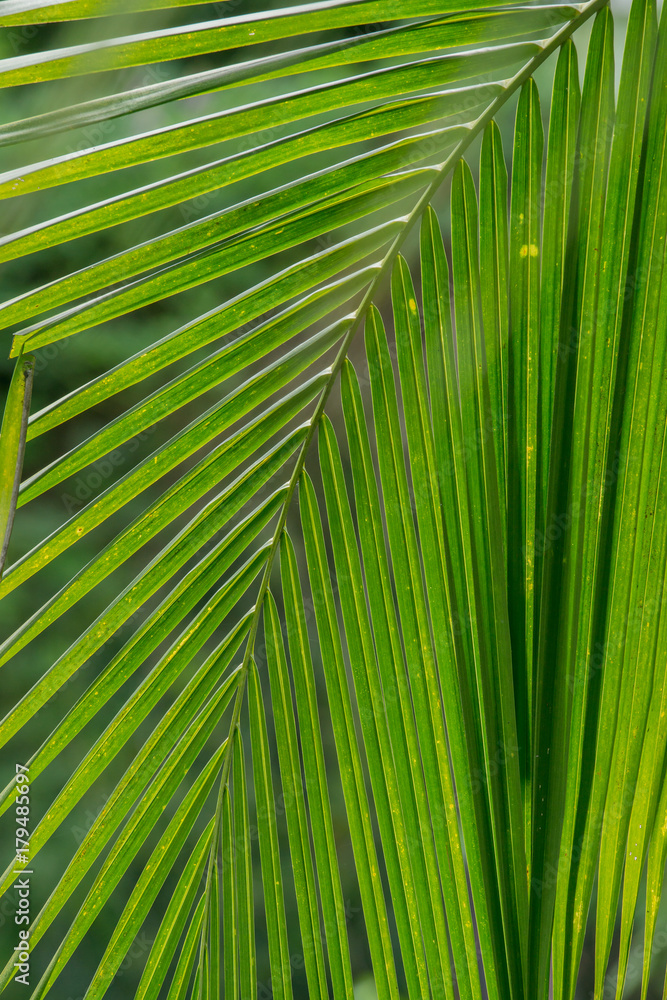
[{"label": "long green leaflet second to the right of the bright yellow-spotted leaflet", "polygon": [[[560,607],[558,655],[564,660],[565,683],[573,692],[571,736],[568,750],[567,792],[563,823],[562,848],[558,866],[554,961],[558,968],[559,1000],[570,1000],[574,991],[575,969],[579,963],[583,935],[588,915],[594,865],[599,848],[599,827],[590,809],[587,832],[582,836],[575,828],[580,795],[590,792],[589,781],[593,766],[590,744],[584,752],[585,738],[595,743],[587,726],[589,691],[590,640],[579,644],[580,599],[587,590],[584,577],[588,567],[583,563],[586,529],[585,496],[589,486],[588,436],[590,434],[590,395],[593,391],[593,333],[600,279],[600,241],[604,222],[604,197],[614,122],[613,95],[613,30],[608,11],[596,18],[586,62],[582,93],[581,121],[577,150],[576,213],[573,218],[573,253],[576,257],[576,279],[568,287],[568,302],[561,320],[562,381],[556,393],[571,394],[571,407],[561,433],[565,435],[565,455],[568,456],[569,484],[565,503],[554,511],[555,517],[566,516],[567,535],[564,541],[564,575],[561,581],[563,599]],[[571,311],[570,311],[571,310]],[[556,403],[558,405],[558,403]],[[565,455],[563,457],[565,457]],[[579,516],[580,511],[584,516]],[[567,512],[570,512],[569,515]],[[574,516],[576,512],[577,516]],[[547,512],[547,525],[551,512]],[[563,529],[561,529],[563,530]],[[598,601],[604,600],[598,594]],[[596,687],[593,682],[593,691]],[[606,789],[604,773],[599,787]],[[599,796],[598,796],[599,800]],[[589,806],[590,808],[590,806]],[[584,816],[586,813],[584,812]],[[576,846],[575,837],[579,836]]]}]

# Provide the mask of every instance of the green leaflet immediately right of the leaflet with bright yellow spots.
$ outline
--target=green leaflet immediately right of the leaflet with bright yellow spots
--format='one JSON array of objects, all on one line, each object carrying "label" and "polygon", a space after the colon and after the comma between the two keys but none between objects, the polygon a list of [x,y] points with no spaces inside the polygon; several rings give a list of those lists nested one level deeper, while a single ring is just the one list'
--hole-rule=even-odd
[{"label": "green leaflet immediately right of the leaflet with bright yellow spots", "polygon": [[[530,635],[530,678],[533,686],[530,711],[533,725],[529,746],[533,763],[530,774],[531,810],[531,866],[530,866],[530,944],[529,989],[546,996],[548,990],[548,963],[551,926],[555,894],[555,880],[551,872],[558,862],[562,803],[565,788],[565,758],[567,734],[567,687],[559,676],[553,661],[553,635],[558,629],[558,601],[560,600],[560,567],[552,548],[552,532],[547,528],[547,517],[553,514],[553,504],[548,499],[550,459],[556,455],[560,440],[559,428],[553,430],[554,382],[558,362],[558,338],[563,286],[567,274],[565,258],[566,237],[570,213],[574,154],[579,113],[579,81],[576,50],[566,43],[559,55],[552,96],[549,121],[544,208],[540,232],[539,220],[532,218],[533,236],[528,229],[518,225],[539,248],[541,285],[539,290],[539,340],[533,337],[532,401],[539,414],[531,411],[535,440],[536,462],[528,464],[533,490],[534,537],[531,546],[531,579],[540,604],[533,600],[533,617],[530,628],[526,620],[526,635]],[[538,126],[539,132],[539,126]],[[533,173],[533,185],[541,184],[541,176]],[[533,199],[537,192],[533,191]],[[534,209],[533,209],[534,210]],[[519,214],[520,219],[520,214]],[[517,220],[519,221],[519,220]],[[538,242],[535,243],[534,241]],[[522,257],[523,243],[515,246],[515,267],[524,274],[523,294],[532,296],[530,322],[533,334],[538,329],[535,315],[535,274],[531,273],[530,250]],[[528,244],[527,244],[528,245]],[[539,376],[538,376],[539,372]],[[561,412],[561,411],[559,411]],[[552,452],[552,435],[554,451]],[[557,468],[554,461],[554,468]],[[546,555],[545,555],[546,553]],[[553,566],[556,566],[555,571]],[[546,566],[546,570],[544,567]],[[548,632],[547,629],[554,629]],[[538,629],[540,631],[538,631]],[[528,648],[528,647],[527,647]]]}]

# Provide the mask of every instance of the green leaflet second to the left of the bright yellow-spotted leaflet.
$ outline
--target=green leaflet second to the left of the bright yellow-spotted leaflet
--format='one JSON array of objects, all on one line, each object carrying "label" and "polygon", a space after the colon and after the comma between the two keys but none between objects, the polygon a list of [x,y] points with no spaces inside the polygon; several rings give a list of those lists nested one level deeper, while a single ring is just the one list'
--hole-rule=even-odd
[{"label": "green leaflet second to the left of the bright yellow-spotted leaflet", "polygon": [[[525,989],[528,921],[526,850],[519,774],[520,744],[512,676],[508,592],[504,577],[498,475],[490,433],[491,403],[485,376],[477,198],[470,169],[461,162],[452,181],[452,261],[457,356],[463,425],[476,449],[466,453],[470,533],[477,552],[473,594],[477,604],[474,662],[477,706],[493,832],[496,878],[513,995]],[[519,702],[520,705],[520,702]],[[498,751],[503,768],[491,768]],[[493,773],[493,772],[496,773]]]}]

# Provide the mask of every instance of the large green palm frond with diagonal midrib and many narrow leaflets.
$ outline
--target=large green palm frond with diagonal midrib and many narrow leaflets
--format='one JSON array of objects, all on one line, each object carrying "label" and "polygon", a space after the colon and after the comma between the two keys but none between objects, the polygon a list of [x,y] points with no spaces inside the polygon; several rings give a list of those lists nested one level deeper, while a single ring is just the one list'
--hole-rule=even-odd
[{"label": "large green palm frond with diagonal midrib and many narrow leaflets", "polygon": [[[5,0],[0,26],[179,6]],[[571,36],[592,15],[580,93]],[[667,857],[667,22],[635,0],[616,88],[600,0],[183,20],[0,62],[6,87],[102,74],[88,100],[0,127],[18,157],[4,204],[73,191],[0,238],[3,262],[157,227],[17,288],[0,305],[12,356],[233,289],[28,424],[28,460],[44,434],[71,444],[25,478],[17,524],[110,470],[0,582],[15,607],[75,566],[0,647],[20,677],[50,629],[69,636],[0,730],[7,752],[51,713],[27,761],[37,789],[78,761],[34,823],[35,870],[111,789],[32,919],[29,995],[65,995],[115,906],[86,1000],[113,989],[147,919],[142,1000],[264,995],[263,941],[276,997],[294,968],[310,996],[352,997],[353,884],[380,1000],[547,998],[550,976],[573,1000],[599,871],[595,995],[621,904],[620,996],[645,868],[646,995]],[[179,69],[211,53],[231,56]],[[552,54],[545,136],[533,74]],[[115,89],[149,64],[168,69]],[[494,117],[513,95],[504,149]],[[90,148],[63,139],[109,122]],[[91,200],[100,178],[110,193]],[[109,406],[92,435],[68,430]],[[16,427],[1,444],[9,510]],[[14,799],[12,779],[7,822]],[[11,854],[3,892],[15,871]]]}]

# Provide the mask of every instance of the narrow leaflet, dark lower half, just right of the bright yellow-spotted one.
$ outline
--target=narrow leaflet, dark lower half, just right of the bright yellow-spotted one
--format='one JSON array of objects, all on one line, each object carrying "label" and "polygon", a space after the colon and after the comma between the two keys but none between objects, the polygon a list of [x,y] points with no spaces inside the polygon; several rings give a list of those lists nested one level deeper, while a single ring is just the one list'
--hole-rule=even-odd
[{"label": "narrow leaflet, dark lower half, just right of the bright yellow-spotted one", "polygon": [[[567,354],[561,350],[563,301],[574,286],[576,257],[568,244],[574,163],[581,102],[577,52],[570,41],[556,65],[549,116],[549,139],[542,216],[539,319],[539,430],[538,480],[534,540],[534,580],[540,606],[533,619],[533,728],[532,823],[530,874],[529,992],[545,998],[549,990],[549,962],[560,836],[567,780],[570,687],[558,647],[559,608],[562,599],[562,560],[558,540],[567,477],[562,473],[565,446],[563,423],[568,400],[557,383],[557,369]],[[567,286],[567,287],[566,287]],[[566,330],[570,336],[570,331]],[[556,385],[560,393],[556,396]],[[554,527],[554,520],[559,525]],[[554,537],[555,535],[555,537]],[[536,634],[537,633],[537,634]]]}]

